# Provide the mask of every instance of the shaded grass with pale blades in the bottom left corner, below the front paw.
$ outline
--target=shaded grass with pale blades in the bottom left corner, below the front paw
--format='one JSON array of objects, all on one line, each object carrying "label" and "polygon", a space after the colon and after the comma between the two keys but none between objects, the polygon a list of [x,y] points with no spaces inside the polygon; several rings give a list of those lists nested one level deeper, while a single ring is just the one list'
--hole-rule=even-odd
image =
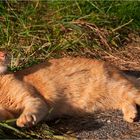
[{"label": "shaded grass with pale blades in the bottom left corner, below the front paw", "polygon": [[[56,135],[55,131],[50,129],[48,125],[41,124],[34,128],[18,128],[15,125],[16,120],[8,120],[0,122],[0,139],[34,139],[34,138],[46,138],[46,139],[65,139],[65,136]],[[58,133],[58,132],[57,132]]]}]

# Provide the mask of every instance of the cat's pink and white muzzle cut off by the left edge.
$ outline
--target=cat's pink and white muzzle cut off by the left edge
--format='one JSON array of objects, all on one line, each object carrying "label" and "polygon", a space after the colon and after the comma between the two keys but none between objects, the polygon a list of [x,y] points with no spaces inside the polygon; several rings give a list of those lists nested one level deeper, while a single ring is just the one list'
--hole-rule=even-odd
[{"label": "cat's pink and white muzzle cut off by the left edge", "polygon": [[0,51],[0,74],[7,71],[9,59],[6,52]]}]

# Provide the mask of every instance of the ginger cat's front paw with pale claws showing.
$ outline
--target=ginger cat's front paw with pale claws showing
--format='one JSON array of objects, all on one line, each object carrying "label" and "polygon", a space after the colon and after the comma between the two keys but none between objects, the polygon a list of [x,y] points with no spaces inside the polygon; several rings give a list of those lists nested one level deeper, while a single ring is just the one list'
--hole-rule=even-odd
[{"label": "ginger cat's front paw with pale claws showing", "polygon": [[22,114],[16,121],[19,127],[31,127],[37,123],[37,117],[35,114],[26,113]]}]

